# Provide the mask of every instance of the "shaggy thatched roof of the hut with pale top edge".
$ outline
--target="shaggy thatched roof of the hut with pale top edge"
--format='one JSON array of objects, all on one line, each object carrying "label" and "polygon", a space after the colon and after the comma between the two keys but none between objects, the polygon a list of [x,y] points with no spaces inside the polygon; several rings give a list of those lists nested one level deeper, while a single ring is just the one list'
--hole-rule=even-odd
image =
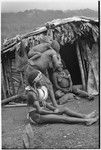
[{"label": "shaggy thatched roof of the hut with pale top edge", "polygon": [[[99,37],[98,20],[86,17],[72,17],[47,22],[44,27],[40,27],[31,33],[21,35],[21,38],[27,39],[31,36],[40,36],[40,34],[47,32],[48,28],[52,29],[54,39],[61,45],[67,43],[72,44],[78,39],[88,39],[96,42]],[[14,50],[18,44],[19,40],[17,37],[5,40],[1,54]]]}]

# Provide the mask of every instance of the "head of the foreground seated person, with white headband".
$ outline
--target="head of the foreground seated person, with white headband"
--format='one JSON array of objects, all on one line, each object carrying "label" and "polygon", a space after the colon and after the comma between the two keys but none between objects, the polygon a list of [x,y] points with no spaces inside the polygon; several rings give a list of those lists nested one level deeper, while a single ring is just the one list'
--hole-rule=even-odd
[{"label": "head of the foreground seated person, with white headband", "polygon": [[33,69],[28,75],[28,83],[33,86],[35,83],[39,83],[42,78],[42,73],[39,70]]}]

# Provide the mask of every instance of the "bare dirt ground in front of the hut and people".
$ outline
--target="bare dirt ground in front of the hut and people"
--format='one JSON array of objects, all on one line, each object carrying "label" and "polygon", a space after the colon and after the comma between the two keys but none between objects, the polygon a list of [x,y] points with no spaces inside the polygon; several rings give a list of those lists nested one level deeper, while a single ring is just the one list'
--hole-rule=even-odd
[{"label": "bare dirt ground in front of the hut and people", "polygon": [[[66,106],[77,112],[88,114],[99,111],[98,96],[94,101],[86,99],[69,101]],[[28,124],[26,107],[2,109],[2,148],[24,149],[22,135]],[[98,149],[99,122],[92,126],[81,124],[31,125],[34,136],[30,147],[34,149]]]}]

